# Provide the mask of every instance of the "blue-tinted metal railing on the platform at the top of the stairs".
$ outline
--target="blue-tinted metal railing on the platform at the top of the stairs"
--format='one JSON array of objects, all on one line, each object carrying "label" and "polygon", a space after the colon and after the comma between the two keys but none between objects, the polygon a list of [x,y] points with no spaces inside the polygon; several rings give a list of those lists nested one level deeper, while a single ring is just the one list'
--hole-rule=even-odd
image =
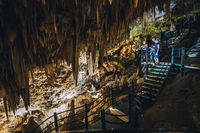
[{"label": "blue-tinted metal railing on the platform at the top of the stairs", "polygon": [[[148,72],[148,65],[150,64],[150,50],[141,50],[141,64],[144,64]],[[190,57],[188,54],[197,54],[196,57]],[[159,53],[162,57],[159,57],[161,61],[169,62],[172,65],[181,67],[181,71],[184,71],[184,68],[190,69],[199,69],[200,70],[200,50],[191,50],[191,48],[176,48],[169,47],[162,49]]]}]

